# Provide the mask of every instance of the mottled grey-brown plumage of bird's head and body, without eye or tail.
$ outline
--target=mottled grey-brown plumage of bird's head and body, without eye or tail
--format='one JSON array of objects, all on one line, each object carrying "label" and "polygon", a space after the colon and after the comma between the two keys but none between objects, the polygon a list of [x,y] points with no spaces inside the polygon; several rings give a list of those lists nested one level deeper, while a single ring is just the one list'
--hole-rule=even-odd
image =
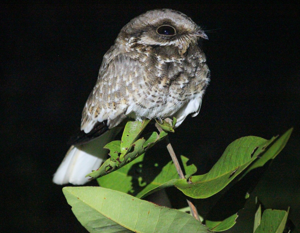
[{"label": "mottled grey-brown plumage of bird's head and body, without eye or tail", "polygon": [[[176,34],[158,34],[162,25]],[[190,101],[198,105],[192,109],[197,112],[209,81],[200,37],[206,38],[202,29],[178,11],[148,11],[131,20],[104,55],[81,130],[88,133],[104,120],[112,128],[126,116],[185,118],[178,111]]]}]

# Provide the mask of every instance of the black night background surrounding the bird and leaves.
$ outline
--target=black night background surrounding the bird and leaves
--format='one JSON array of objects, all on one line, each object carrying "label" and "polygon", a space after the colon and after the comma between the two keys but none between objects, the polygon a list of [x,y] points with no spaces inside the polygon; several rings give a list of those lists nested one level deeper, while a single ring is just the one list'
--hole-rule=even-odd
[{"label": "black night background surrounding the bird and leaves", "polygon": [[[126,23],[154,8],[183,12],[209,38],[203,49],[211,82],[200,114],[187,118],[171,137],[177,154],[191,158],[204,173],[233,140],[269,139],[294,127],[256,195],[267,208],[291,206],[290,218],[299,224],[298,5],[0,7],[3,229],[85,232],[52,174],[79,127],[104,53]],[[178,190],[168,193],[174,207],[183,207],[176,202]]]}]

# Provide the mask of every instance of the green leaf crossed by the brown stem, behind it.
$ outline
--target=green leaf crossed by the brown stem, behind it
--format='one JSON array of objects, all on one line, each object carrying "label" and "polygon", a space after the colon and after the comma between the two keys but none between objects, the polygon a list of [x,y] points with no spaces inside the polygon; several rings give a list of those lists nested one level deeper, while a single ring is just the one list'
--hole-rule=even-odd
[{"label": "green leaf crossed by the brown stem, behind it", "polygon": [[[188,177],[197,171],[197,168],[194,164],[187,165],[187,161],[189,160],[188,158],[181,156],[181,159],[185,173],[187,174],[185,177],[188,179]],[[176,167],[174,166],[173,161],[170,161],[166,166],[163,167],[158,176],[156,176],[151,183],[149,183],[141,192],[139,192],[136,197],[144,198],[160,189],[173,186],[175,181],[178,179],[179,175]]]}]

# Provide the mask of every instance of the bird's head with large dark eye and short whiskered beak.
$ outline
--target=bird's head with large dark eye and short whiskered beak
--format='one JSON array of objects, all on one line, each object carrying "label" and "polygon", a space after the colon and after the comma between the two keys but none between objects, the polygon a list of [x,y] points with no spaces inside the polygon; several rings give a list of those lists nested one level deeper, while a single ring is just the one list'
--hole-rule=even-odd
[{"label": "bird's head with large dark eye and short whiskered beak", "polygon": [[208,39],[201,27],[179,11],[159,9],[147,11],[125,25],[116,42],[146,46],[178,47],[184,54],[199,38]]}]

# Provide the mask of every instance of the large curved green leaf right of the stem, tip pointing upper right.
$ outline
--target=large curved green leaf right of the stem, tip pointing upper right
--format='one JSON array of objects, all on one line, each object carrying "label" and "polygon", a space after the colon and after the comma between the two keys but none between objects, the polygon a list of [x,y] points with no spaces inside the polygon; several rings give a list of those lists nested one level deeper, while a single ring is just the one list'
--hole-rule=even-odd
[{"label": "large curved green leaf right of the stem, tip pointing upper right", "polygon": [[175,186],[185,195],[192,198],[208,198],[229,184],[239,173],[248,167],[274,138],[266,140],[260,137],[247,136],[235,140],[227,146],[225,152],[211,170],[199,176],[179,179]]}]

